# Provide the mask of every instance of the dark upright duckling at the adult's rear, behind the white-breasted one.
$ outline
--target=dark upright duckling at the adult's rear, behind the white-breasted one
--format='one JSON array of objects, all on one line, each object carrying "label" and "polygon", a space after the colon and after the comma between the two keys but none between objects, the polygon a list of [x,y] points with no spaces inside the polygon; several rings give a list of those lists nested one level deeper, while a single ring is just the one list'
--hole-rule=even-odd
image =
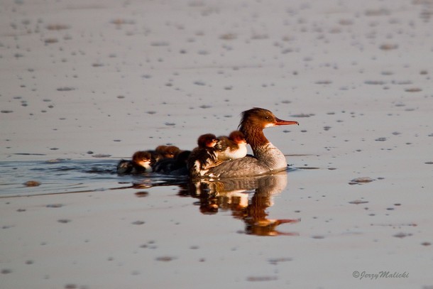
[{"label": "dark upright duckling at the adult's rear, behind the white-breasted one", "polygon": [[191,151],[187,160],[190,177],[196,178],[204,172],[218,164],[217,151],[215,145],[218,142],[217,136],[212,133],[203,134],[197,140],[197,148]]}]

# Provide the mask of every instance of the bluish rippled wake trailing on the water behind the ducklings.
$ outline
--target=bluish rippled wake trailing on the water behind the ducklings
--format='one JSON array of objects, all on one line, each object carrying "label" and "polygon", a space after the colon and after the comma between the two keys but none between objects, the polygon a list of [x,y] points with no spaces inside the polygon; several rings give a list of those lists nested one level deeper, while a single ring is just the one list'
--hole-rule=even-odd
[{"label": "bluish rippled wake trailing on the water behind the ducklings", "polygon": [[[119,176],[117,160],[40,160],[0,162],[0,197],[101,192],[124,188],[152,187],[165,182],[185,182],[163,175]],[[138,192],[146,197],[148,192]],[[61,205],[49,205],[56,207]]]}]

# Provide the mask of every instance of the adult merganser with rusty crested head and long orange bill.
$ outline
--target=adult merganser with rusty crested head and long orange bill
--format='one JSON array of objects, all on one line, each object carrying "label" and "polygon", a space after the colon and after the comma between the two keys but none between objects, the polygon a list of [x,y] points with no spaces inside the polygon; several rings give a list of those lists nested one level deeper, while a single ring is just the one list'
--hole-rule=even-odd
[{"label": "adult merganser with rusty crested head and long orange bill", "polygon": [[268,109],[255,107],[243,111],[239,131],[243,133],[246,142],[253,149],[254,156],[226,160],[215,167],[201,170],[198,175],[208,178],[239,178],[286,170],[285,156],[268,141],[268,138],[263,134],[263,129],[288,124],[299,125],[297,121],[278,119]]}]

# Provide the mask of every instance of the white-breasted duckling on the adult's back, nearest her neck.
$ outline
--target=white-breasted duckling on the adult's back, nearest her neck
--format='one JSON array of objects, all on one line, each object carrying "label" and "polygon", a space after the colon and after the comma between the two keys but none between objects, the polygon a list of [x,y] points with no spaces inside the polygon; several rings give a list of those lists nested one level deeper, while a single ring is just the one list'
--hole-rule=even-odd
[{"label": "white-breasted duckling on the adult's back, nearest her neck", "polygon": [[219,136],[215,146],[218,160],[234,160],[246,156],[246,139],[241,131],[232,131],[227,136]]}]

